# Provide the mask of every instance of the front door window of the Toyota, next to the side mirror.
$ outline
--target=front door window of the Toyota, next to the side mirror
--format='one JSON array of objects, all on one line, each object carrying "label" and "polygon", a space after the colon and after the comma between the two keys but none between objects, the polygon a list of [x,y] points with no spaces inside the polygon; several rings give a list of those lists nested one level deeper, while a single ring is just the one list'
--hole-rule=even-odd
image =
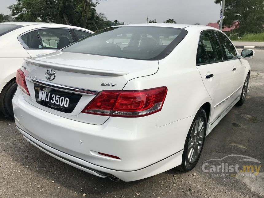
[{"label": "front door window of the Toyota, next to the side mirror", "polygon": [[235,47],[234,45],[229,41],[229,39],[220,32],[217,32],[218,39],[222,45],[222,48],[225,50],[227,59],[235,59],[237,58]]}]

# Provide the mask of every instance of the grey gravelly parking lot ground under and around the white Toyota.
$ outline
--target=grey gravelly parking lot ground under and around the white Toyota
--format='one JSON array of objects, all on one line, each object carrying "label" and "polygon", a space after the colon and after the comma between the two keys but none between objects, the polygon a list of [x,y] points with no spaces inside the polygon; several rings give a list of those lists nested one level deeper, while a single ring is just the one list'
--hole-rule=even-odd
[{"label": "grey gravelly parking lot ground under and around the white Toyota", "polygon": [[[246,102],[233,107],[207,136],[192,171],[171,169],[139,181],[114,183],[50,157],[23,139],[13,120],[0,115],[0,197],[263,197],[263,116],[264,72],[251,72]],[[208,160],[224,157],[227,165],[252,163],[260,169],[242,172],[244,176],[210,172],[210,165],[219,162]]]}]

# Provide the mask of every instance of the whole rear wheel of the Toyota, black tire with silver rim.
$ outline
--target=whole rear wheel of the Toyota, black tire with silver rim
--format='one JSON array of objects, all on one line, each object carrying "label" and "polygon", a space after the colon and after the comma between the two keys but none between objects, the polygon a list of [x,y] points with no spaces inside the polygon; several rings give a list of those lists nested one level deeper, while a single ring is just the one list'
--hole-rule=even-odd
[{"label": "whole rear wheel of the Toyota, black tire with silver rim", "polygon": [[[181,165],[177,166],[176,169],[183,172],[188,172],[195,167],[204,147],[206,129],[206,113],[203,108],[200,108],[192,121],[192,125],[185,140],[184,151],[182,154],[182,163]],[[189,150],[188,147],[190,148]],[[197,154],[195,152],[197,152]]]}]

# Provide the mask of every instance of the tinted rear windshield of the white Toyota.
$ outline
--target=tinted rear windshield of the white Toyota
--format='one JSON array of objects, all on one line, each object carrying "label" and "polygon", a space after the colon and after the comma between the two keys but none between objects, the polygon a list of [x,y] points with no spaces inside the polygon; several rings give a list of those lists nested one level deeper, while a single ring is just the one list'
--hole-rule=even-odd
[{"label": "tinted rear windshield of the white Toyota", "polygon": [[186,30],[178,28],[111,27],[92,34],[62,51],[138,60],[160,60],[167,56],[186,34]]}]

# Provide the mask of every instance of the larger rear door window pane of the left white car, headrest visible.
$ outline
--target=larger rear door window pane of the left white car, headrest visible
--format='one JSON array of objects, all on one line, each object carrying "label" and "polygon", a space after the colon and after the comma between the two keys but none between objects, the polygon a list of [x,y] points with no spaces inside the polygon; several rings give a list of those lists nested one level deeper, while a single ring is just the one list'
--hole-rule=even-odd
[{"label": "larger rear door window pane of the left white car, headrest visible", "polygon": [[43,49],[62,49],[73,43],[68,29],[39,29],[37,33],[42,40]]}]

